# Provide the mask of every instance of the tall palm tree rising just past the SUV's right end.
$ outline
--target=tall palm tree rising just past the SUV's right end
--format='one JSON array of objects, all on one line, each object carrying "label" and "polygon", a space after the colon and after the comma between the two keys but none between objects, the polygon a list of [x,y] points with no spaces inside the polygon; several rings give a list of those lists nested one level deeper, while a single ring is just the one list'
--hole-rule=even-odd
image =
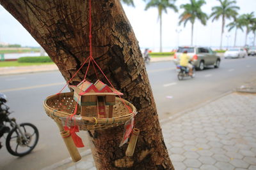
[{"label": "tall palm tree rising just past the SUV's right end", "polygon": [[212,18],[212,22],[214,20],[218,20],[218,18],[222,18],[222,27],[221,27],[221,38],[220,38],[220,49],[222,49],[222,37],[224,33],[224,27],[225,27],[225,18],[235,18],[237,15],[237,10],[240,8],[238,6],[235,6],[236,1],[230,1],[230,0],[218,0],[220,1],[220,6],[214,6],[212,7],[212,13],[210,17]]}]

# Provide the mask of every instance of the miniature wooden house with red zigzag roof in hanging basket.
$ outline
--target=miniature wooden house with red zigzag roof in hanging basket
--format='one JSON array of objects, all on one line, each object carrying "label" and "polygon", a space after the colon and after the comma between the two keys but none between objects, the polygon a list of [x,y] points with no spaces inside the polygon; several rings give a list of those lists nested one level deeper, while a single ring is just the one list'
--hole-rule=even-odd
[{"label": "miniature wooden house with red zigzag roof in hanging basket", "polygon": [[82,117],[113,117],[115,97],[123,95],[100,80],[94,84],[83,80],[77,86],[70,87],[74,90],[74,100],[81,108]]}]

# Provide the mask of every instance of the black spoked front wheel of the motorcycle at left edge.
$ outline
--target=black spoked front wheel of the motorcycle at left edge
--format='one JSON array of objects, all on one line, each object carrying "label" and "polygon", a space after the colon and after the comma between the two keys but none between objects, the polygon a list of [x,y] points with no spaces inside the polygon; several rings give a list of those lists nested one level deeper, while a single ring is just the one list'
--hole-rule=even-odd
[{"label": "black spoked front wheel of the motorcycle at left edge", "polygon": [[33,124],[20,124],[20,131],[23,132],[27,139],[22,137],[17,127],[13,128],[6,138],[8,152],[18,157],[30,153],[35,148],[39,138],[38,130]]}]

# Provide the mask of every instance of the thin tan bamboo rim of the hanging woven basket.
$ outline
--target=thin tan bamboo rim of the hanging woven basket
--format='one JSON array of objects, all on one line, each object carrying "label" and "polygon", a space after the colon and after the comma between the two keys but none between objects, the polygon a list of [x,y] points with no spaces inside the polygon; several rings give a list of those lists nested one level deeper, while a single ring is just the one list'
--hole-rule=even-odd
[{"label": "thin tan bamboo rim of the hanging woven basket", "polygon": [[[49,110],[50,112],[53,112],[53,113],[58,113],[60,115],[63,115],[63,117],[65,116],[70,116],[72,115],[71,113],[67,113],[67,112],[64,112],[64,111],[58,111],[58,110],[54,110],[53,108],[51,108],[48,104],[47,104],[47,100],[51,99],[52,97],[56,97],[56,96],[64,96],[64,97],[72,97],[74,94],[74,92],[65,92],[65,93],[61,93],[61,94],[53,94],[51,96],[48,96],[46,97],[46,99],[44,100],[44,108]],[[122,99],[122,98],[121,98]],[[112,118],[98,118],[98,117],[82,117],[81,118],[83,120],[86,120],[86,121],[89,121],[93,124],[106,124],[106,122],[113,120],[128,120],[130,117],[132,117],[132,115],[136,115],[137,111],[136,111],[136,108],[133,106],[133,104],[129,103],[128,101],[126,101],[125,99],[122,99],[121,100],[120,97],[116,97],[116,100],[117,101],[124,101],[125,104],[127,104],[131,109],[132,109],[132,113],[129,113],[127,115],[122,115],[122,116],[119,116],[119,117],[112,117]]]}]

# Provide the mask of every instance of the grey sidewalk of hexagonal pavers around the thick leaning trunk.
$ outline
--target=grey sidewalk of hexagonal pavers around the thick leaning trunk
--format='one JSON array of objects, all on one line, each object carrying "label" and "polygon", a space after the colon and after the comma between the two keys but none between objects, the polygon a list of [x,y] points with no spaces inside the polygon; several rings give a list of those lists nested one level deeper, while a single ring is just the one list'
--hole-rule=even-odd
[{"label": "grey sidewalk of hexagonal pavers around the thick leaning trunk", "polygon": [[[244,89],[246,92],[241,92]],[[256,169],[256,80],[161,124],[173,166],[182,169]],[[252,93],[251,93],[252,92]],[[90,151],[77,163],[45,169],[96,169]]]}]

